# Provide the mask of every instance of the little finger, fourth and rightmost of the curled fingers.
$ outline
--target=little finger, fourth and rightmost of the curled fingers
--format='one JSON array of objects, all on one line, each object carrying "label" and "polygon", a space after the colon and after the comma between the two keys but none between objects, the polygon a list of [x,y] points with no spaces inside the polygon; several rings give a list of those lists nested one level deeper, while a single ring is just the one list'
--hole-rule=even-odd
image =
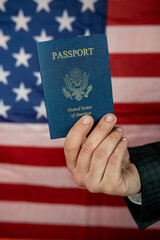
[{"label": "little finger, fourth and rightmost of the curled fingers", "polygon": [[118,194],[124,187],[122,182],[122,161],[127,150],[127,144],[127,138],[122,138],[108,160],[101,180],[105,184],[104,187],[108,194]]}]

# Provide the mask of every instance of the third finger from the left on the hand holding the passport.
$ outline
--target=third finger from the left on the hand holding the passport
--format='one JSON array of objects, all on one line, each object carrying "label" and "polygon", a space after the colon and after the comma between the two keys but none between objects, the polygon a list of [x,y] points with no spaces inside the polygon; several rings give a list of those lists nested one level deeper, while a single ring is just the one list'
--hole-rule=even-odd
[{"label": "third finger from the left on the hand holding the passport", "polygon": [[92,182],[96,186],[101,181],[109,157],[114,152],[117,144],[123,136],[123,129],[116,127],[96,148],[93,153],[89,172],[87,174],[87,183]]}]

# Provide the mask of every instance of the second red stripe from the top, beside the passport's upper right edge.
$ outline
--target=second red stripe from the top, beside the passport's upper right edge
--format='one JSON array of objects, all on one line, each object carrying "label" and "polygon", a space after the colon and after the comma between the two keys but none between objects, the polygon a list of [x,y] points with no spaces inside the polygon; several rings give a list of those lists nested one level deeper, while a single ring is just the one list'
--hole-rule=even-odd
[{"label": "second red stripe from the top, beside the passport's upper right edge", "polygon": [[160,54],[110,54],[112,77],[159,77]]}]

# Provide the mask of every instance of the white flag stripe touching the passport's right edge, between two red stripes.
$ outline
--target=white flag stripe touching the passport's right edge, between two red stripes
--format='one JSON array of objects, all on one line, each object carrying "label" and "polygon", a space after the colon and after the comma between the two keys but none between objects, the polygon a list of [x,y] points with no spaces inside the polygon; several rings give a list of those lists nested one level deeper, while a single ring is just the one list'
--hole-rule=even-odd
[{"label": "white flag stripe touching the passport's right edge, between two red stripes", "polygon": [[112,77],[112,86],[116,103],[160,102],[159,77]]}]

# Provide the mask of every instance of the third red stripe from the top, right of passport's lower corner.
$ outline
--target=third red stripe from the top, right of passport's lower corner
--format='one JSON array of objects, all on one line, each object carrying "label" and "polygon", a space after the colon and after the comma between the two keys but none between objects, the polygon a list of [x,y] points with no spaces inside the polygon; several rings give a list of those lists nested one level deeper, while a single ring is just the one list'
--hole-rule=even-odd
[{"label": "third red stripe from the top, right of passport's lower corner", "polygon": [[160,124],[160,103],[114,104],[118,124]]}]

